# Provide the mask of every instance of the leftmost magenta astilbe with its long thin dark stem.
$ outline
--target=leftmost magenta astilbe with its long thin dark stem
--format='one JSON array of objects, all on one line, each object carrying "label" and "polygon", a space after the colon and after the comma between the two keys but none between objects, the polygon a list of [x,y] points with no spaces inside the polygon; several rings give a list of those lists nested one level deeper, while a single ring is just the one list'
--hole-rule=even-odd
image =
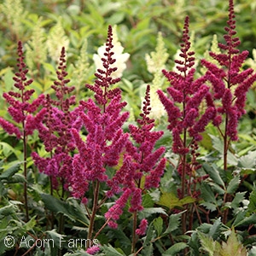
[{"label": "leftmost magenta astilbe with its long thin dark stem", "polygon": [[[10,105],[8,108],[8,112],[14,120],[15,124],[10,123],[8,120],[0,117],[0,125],[10,135],[15,135],[23,142],[23,172],[26,179],[27,140],[28,136],[32,135],[32,132],[36,128],[34,125],[32,125],[32,123],[40,123],[41,119],[44,116],[44,109],[40,110],[40,112],[36,114],[39,106],[44,101],[44,95],[40,95],[38,96],[38,98],[32,100],[32,95],[35,90],[28,89],[29,85],[32,84],[32,79],[27,78],[28,69],[26,68],[26,63],[24,62],[24,53],[21,42],[18,43],[17,53],[19,55],[17,59],[17,67],[19,68],[19,70],[17,73],[15,73],[15,77],[13,78],[15,81],[14,86],[17,91],[11,90],[9,92],[3,93],[3,98]],[[29,212],[27,206],[26,182],[24,183],[24,201],[26,207],[26,220],[28,220]]]}]

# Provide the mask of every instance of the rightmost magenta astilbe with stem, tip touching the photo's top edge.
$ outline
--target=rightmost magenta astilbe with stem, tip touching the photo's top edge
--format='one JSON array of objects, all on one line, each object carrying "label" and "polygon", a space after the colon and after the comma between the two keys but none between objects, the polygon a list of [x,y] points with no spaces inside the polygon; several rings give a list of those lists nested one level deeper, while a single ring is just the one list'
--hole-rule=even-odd
[{"label": "rightmost magenta astilbe with stem, tip touching the photo's top edge", "polygon": [[[248,51],[237,48],[241,42],[236,37],[236,15],[233,0],[230,0],[229,20],[224,29],[225,44],[219,43],[221,53],[210,52],[210,56],[218,64],[202,60],[207,67],[205,78],[212,84],[211,105],[217,113],[212,123],[218,128],[224,142],[224,171],[228,170],[228,151],[231,141],[238,140],[238,120],[245,113],[247,90],[256,80],[256,73],[252,68],[242,70],[247,59]],[[224,195],[224,203],[229,201],[229,195]],[[224,223],[227,221],[227,210],[224,212]]]}]

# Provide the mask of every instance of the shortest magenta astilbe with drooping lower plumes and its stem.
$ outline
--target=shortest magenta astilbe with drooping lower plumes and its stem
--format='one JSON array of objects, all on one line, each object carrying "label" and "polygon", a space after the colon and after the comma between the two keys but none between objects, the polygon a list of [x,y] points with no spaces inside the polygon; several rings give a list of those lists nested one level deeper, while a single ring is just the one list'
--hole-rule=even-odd
[{"label": "shortest magenta astilbe with drooping lower plumes and its stem", "polygon": [[131,253],[135,253],[137,236],[143,236],[146,231],[148,221],[142,219],[137,229],[137,212],[143,210],[143,194],[148,189],[156,189],[160,185],[160,177],[164,173],[166,158],[161,158],[166,148],[160,147],[154,150],[155,143],[162,137],[163,131],[152,131],[154,119],[149,118],[150,113],[150,87],[147,86],[145,100],[143,102],[143,113],[141,119],[137,119],[136,125],[129,125],[129,130],[133,143],[128,141],[125,146],[123,156],[123,166],[108,181],[111,190],[108,195],[123,192],[123,195],[116,201],[105,214],[106,218],[111,218],[109,224],[113,228],[117,227],[116,221],[119,219],[125,202],[131,197],[129,212],[133,214],[133,234]]}]

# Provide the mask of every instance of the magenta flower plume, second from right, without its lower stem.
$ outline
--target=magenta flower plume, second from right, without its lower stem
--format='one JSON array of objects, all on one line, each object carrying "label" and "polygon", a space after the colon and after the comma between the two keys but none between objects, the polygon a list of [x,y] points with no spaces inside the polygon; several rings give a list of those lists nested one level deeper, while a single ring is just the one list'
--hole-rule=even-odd
[{"label": "magenta flower plume, second from right, without its lower stem", "polygon": [[[185,155],[189,153],[189,145],[193,141],[201,140],[200,133],[205,131],[216,111],[210,100],[207,101],[206,113],[201,115],[199,111],[204,99],[211,96],[209,87],[204,84],[207,79],[194,79],[195,52],[190,50],[188,16],[184,21],[182,40],[180,59],[175,61],[178,72],[163,70],[171,85],[167,88],[168,96],[161,90],[157,93],[168,114],[168,129],[172,131],[173,139],[172,151]],[[190,141],[187,142],[188,136]]]}]

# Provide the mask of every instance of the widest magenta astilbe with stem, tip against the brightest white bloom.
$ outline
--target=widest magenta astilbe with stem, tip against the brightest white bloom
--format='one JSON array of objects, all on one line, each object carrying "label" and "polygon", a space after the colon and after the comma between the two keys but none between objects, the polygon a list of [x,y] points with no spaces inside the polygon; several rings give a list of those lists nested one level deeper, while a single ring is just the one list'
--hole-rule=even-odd
[{"label": "widest magenta astilbe with stem, tip against the brightest white bloom", "polygon": [[[94,233],[96,212],[107,196],[100,198],[101,188],[108,182],[107,168],[119,164],[119,158],[129,135],[122,130],[122,125],[128,119],[129,113],[120,113],[126,103],[121,102],[121,90],[110,89],[110,86],[119,82],[113,79],[112,73],[117,70],[113,67],[113,34],[112,27],[108,27],[108,40],[102,58],[103,69],[97,69],[95,84],[86,84],[86,87],[95,93],[94,102],[89,99],[81,101],[80,106],[84,111],[79,112],[79,117],[86,130],[84,141],[79,131],[72,129],[73,139],[79,150],[73,156],[72,193],[87,204],[86,192],[93,188],[93,203],[91,212],[88,210],[90,225],[88,239],[91,240]],[[86,207],[87,208],[87,207]]]}]

